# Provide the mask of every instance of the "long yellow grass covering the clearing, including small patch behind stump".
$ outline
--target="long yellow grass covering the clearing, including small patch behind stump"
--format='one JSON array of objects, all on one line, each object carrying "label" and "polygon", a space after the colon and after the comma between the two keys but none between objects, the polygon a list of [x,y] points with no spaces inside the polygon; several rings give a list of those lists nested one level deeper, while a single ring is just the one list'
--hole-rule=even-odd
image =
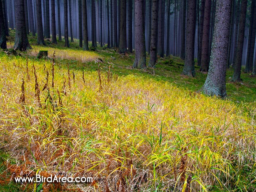
[{"label": "long yellow grass covering the clearing, including small patch behind stump", "polygon": [[[84,61],[97,54],[59,50],[56,57]],[[4,56],[0,62],[0,148],[26,169],[93,176],[94,187],[80,188],[101,191],[105,178],[112,191],[120,177],[127,191],[185,191],[191,176],[191,191],[211,191],[212,186],[238,186],[234,177],[244,165],[251,167],[252,178],[256,175],[254,106],[237,106],[143,76],[113,75],[108,83],[103,71],[102,91],[98,72],[85,71],[83,83],[82,71],[74,70],[74,83],[72,69],[69,89],[68,71],[57,66],[53,89],[52,63],[34,61],[39,108],[33,60],[28,63],[30,80],[26,59]],[[46,71],[49,93],[42,92]],[[22,78],[25,107],[19,103]]]}]

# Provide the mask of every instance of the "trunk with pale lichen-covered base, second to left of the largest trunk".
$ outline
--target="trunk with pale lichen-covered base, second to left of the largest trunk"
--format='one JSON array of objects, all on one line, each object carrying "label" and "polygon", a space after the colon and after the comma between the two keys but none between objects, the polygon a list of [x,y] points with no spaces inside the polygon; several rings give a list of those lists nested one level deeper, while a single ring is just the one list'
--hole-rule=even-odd
[{"label": "trunk with pale lichen-covered base, second to left of the largest trunk", "polygon": [[186,33],[186,51],[185,63],[182,74],[195,76],[195,30],[196,30],[196,0],[189,1],[188,18],[187,18],[187,33]]}]

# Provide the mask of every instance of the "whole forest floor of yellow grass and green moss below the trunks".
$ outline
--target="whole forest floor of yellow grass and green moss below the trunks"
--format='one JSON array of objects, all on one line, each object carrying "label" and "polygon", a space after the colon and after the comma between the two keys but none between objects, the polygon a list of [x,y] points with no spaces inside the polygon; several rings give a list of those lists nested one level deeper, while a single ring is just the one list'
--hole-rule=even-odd
[{"label": "whole forest floor of yellow grass and green moss below the trunks", "polygon": [[[131,67],[135,53],[85,52],[77,39],[70,48],[64,40],[38,46],[31,35],[29,42],[33,49],[21,56],[0,52],[0,191],[256,188],[255,77],[242,73],[243,81],[233,83],[228,69],[228,99],[220,99],[199,92],[207,76],[199,67],[195,78],[180,75],[178,57],[141,70]],[[49,59],[36,59],[39,50],[48,50]],[[12,181],[37,173],[95,181]]]}]

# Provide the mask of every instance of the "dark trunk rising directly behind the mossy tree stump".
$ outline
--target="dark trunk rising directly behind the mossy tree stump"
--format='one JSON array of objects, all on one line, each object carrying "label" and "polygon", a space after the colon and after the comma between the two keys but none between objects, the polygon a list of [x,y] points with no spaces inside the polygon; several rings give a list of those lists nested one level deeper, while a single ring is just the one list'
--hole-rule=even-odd
[{"label": "dark trunk rising directly behind the mossy tree stump", "polygon": [[45,45],[43,22],[42,22],[41,0],[36,0],[36,7],[37,7],[37,44],[38,45]]}]

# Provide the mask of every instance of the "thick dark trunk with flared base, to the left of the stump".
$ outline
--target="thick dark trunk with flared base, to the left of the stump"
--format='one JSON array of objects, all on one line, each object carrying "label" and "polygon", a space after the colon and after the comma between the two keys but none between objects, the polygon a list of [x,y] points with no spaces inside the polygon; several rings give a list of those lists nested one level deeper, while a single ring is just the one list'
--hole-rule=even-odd
[{"label": "thick dark trunk with flared base, to the left of the stump", "polygon": [[14,50],[25,51],[31,49],[31,46],[26,33],[24,0],[15,0],[14,5],[15,9],[19,10],[15,11],[16,31]]}]

